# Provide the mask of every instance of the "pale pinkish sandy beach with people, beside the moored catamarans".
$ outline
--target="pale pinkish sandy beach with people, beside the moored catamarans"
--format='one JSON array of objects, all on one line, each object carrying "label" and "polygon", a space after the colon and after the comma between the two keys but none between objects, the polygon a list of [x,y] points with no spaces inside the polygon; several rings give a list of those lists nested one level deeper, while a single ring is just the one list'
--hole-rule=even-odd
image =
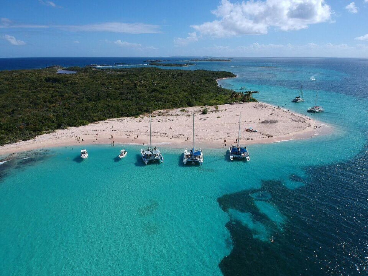
[{"label": "pale pinkish sandy beach with people, beside the moored catamarans", "polygon": [[[152,144],[170,148],[191,147],[192,113],[195,114],[195,145],[202,148],[223,148],[224,140],[226,140],[226,146],[236,143],[240,112],[241,144],[243,145],[305,139],[332,131],[328,125],[265,103],[220,105],[218,110],[215,106],[207,106],[207,108],[208,114],[202,114],[204,107],[153,112]],[[314,128],[314,125],[321,128]],[[246,128],[252,128],[257,132],[245,131]],[[137,118],[115,118],[57,130],[29,141],[1,146],[0,155],[58,146],[84,148],[86,145],[112,143],[147,145],[149,143],[148,114]]]}]

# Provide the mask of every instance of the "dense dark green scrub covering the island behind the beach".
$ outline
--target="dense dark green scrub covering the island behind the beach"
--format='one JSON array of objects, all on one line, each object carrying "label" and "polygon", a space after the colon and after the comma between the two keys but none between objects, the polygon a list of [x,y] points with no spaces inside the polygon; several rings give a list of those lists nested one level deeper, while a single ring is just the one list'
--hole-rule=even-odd
[{"label": "dense dark green scrub covering the island behind the beach", "polygon": [[[0,145],[107,118],[221,105],[245,95],[217,86],[225,71],[70,67],[0,72]],[[247,100],[254,100],[247,98]]]}]

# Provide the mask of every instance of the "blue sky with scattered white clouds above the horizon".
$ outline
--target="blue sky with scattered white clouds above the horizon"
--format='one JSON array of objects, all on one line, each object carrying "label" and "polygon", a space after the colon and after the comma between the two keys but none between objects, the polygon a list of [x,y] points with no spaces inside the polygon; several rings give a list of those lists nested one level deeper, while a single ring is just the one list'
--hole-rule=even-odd
[{"label": "blue sky with scattered white clouds above the horizon", "polygon": [[3,1],[0,57],[364,57],[368,0]]}]

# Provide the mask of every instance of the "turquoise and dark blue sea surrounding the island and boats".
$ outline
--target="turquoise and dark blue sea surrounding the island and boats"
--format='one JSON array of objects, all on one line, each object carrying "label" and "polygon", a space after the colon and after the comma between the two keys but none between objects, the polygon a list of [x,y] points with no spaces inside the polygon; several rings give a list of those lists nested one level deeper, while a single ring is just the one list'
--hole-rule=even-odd
[{"label": "turquoise and dark blue sea surrounding the island and boats", "polygon": [[[0,70],[148,59],[185,62],[0,59]],[[122,160],[110,145],[87,146],[83,162],[78,147],[0,158],[0,275],[367,275],[368,60],[231,60],[164,68],[231,71],[223,87],[302,114],[318,89],[325,112],[309,116],[333,134],[250,145],[246,163],[203,149],[198,167],[170,148],[146,166],[138,146]],[[292,103],[300,84],[305,102]]]}]

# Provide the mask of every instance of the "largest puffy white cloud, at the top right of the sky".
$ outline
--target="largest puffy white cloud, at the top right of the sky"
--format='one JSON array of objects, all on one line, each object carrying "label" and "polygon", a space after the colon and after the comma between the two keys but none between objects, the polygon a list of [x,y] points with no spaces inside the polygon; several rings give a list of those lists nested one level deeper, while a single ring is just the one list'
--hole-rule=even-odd
[{"label": "largest puffy white cloud, at the top right of the sky", "polygon": [[217,20],[191,27],[201,35],[217,38],[261,35],[268,33],[270,27],[291,31],[330,21],[333,11],[324,0],[249,0],[241,3],[222,0],[212,13]]}]

